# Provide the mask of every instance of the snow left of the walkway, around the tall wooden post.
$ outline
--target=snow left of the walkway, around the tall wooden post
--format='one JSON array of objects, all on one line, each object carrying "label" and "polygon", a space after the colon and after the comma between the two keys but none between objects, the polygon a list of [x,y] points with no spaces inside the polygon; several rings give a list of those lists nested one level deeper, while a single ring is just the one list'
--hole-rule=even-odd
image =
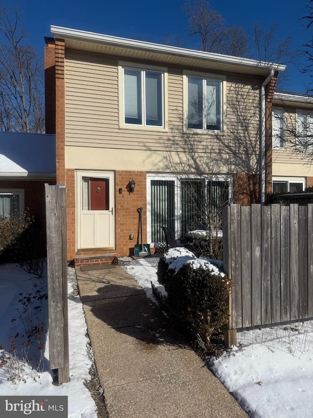
[{"label": "snow left of the walkway, around the tall wooden post", "polygon": [[[74,270],[74,269],[71,269]],[[68,293],[72,292],[74,271],[69,269]],[[21,297],[28,295],[36,295],[36,289],[46,291],[46,285],[40,283],[38,279],[31,279],[31,275],[25,273],[18,265],[6,264],[0,266],[0,345],[8,351],[13,338],[17,331],[22,333],[21,324],[18,323],[19,314],[17,309],[21,311],[25,305],[21,306],[18,302]],[[34,289],[33,285],[37,287]],[[22,295],[21,295],[22,294]],[[31,296],[32,297],[32,296]],[[43,315],[47,315],[47,303],[43,301]],[[44,312],[45,310],[45,312]],[[16,319],[16,321],[11,321]],[[25,364],[19,362],[12,363],[11,371],[22,367],[23,370],[18,372],[25,381],[13,382],[8,381],[8,370],[6,367],[0,367],[0,395],[30,395],[30,396],[50,396],[62,395],[68,397],[68,417],[69,418],[96,418],[96,406],[88,389],[84,386],[84,381],[90,380],[89,369],[91,360],[89,359],[88,343],[86,336],[87,326],[83,312],[83,305],[79,296],[68,297],[68,324],[69,324],[69,372],[70,381],[60,386],[52,384],[53,374],[49,370],[49,353],[48,353],[48,337],[44,335],[41,341],[45,342],[43,351],[43,362],[40,368],[42,372],[34,372],[27,368]],[[19,337],[16,338],[18,343]],[[36,344],[36,343],[35,343]],[[19,347],[17,346],[19,349]],[[35,346],[37,349],[37,346]],[[0,350],[0,355],[3,350]]]}]

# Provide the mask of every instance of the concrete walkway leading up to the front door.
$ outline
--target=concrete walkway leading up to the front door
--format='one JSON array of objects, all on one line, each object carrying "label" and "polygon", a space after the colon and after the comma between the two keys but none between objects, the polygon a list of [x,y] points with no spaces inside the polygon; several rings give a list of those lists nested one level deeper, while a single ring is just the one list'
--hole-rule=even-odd
[{"label": "concrete walkway leading up to the front door", "polygon": [[76,274],[110,418],[247,417],[122,267]]}]

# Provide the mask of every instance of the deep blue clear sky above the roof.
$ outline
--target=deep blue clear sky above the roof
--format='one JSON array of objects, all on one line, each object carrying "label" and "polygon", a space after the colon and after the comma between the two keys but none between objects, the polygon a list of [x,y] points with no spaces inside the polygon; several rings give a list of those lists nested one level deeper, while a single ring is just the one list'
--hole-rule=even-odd
[{"label": "deep blue clear sky above the roof", "polygon": [[[125,38],[159,42],[166,32],[180,33],[188,48],[196,48],[196,38],[185,34],[187,19],[181,12],[185,0],[17,0],[7,4],[19,4],[22,9],[22,26],[29,33],[30,43],[43,55],[44,36],[50,36],[50,25],[64,26],[90,32]],[[292,35],[294,44],[302,49],[309,37],[303,25],[298,23],[305,14],[306,0],[211,0],[211,8],[218,11],[228,26],[243,26],[251,34],[254,22],[266,27],[277,22],[281,38]],[[303,60],[299,60],[303,68]],[[301,74],[296,66],[289,66],[291,79],[286,88],[295,93],[305,93],[309,76]]]}]

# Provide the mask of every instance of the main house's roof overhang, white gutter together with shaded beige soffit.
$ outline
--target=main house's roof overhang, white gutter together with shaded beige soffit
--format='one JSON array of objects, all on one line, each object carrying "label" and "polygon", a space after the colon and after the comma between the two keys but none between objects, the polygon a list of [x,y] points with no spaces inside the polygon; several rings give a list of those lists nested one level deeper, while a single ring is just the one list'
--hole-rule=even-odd
[{"label": "main house's roof overhang, white gutter together with shaded beige soffit", "polygon": [[60,26],[51,25],[51,32],[55,39],[64,39],[65,47],[68,49],[157,61],[167,65],[257,76],[267,76],[272,69],[279,72],[286,68],[285,65],[281,64],[154,44]]}]

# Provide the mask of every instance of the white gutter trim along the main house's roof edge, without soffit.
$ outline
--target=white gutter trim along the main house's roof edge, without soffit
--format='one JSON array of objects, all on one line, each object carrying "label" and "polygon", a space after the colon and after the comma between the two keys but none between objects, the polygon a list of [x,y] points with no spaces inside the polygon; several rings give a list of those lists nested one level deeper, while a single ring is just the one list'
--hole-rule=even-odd
[{"label": "white gutter trim along the main house's roof edge, without soffit", "polygon": [[199,59],[206,59],[210,61],[245,65],[248,67],[262,67],[274,69],[276,71],[284,71],[286,66],[281,64],[274,64],[264,61],[255,61],[248,58],[235,57],[231,55],[216,54],[212,52],[196,51],[194,49],[185,49],[172,47],[168,45],[153,44],[151,42],[137,41],[134,39],[120,38],[111,35],[102,35],[100,33],[87,32],[84,30],[70,29],[67,27],[50,26],[51,33],[55,38],[75,39],[82,42],[91,42],[99,44],[107,44],[117,47],[129,47],[134,49],[142,49],[151,52],[166,53],[172,55],[179,55],[183,57],[192,57]]}]

